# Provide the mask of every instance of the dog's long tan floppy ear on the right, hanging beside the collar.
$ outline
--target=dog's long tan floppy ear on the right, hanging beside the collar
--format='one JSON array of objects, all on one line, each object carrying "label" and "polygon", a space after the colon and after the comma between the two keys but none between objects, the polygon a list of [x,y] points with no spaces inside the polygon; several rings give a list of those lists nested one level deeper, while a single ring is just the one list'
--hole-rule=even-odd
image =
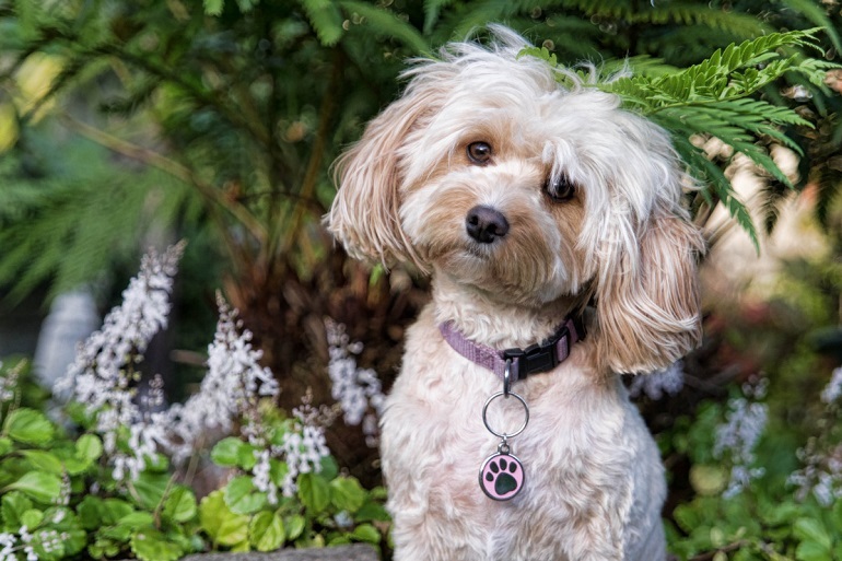
[{"label": "dog's long tan floppy ear on the right, hanging beside the collar", "polygon": [[601,372],[664,369],[701,341],[697,261],[704,243],[678,203],[670,207],[659,201],[645,223],[627,223],[627,235],[620,229],[604,245],[595,287]]}]

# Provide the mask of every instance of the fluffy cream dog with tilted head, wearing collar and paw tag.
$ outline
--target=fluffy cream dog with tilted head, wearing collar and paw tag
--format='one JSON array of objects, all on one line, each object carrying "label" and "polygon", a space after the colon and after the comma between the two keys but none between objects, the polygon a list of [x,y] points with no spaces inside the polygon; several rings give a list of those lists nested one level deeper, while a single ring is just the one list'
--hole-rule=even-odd
[{"label": "fluffy cream dog with tilted head, wearing collar and paw tag", "polygon": [[619,374],[701,339],[692,182],[663,129],[491,34],[411,65],[325,218],[431,276],[382,416],[395,559],[663,560],[664,468]]}]

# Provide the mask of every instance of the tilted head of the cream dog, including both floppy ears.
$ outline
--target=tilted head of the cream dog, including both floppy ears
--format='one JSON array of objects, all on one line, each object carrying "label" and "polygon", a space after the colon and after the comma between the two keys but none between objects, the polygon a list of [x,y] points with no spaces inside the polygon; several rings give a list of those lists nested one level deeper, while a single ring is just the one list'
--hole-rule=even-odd
[{"label": "tilted head of the cream dog, including both floppy ears", "polygon": [[595,87],[559,85],[496,30],[418,63],[339,162],[331,232],[500,304],[596,302],[607,370],[663,367],[699,337],[695,253],[666,133]]}]

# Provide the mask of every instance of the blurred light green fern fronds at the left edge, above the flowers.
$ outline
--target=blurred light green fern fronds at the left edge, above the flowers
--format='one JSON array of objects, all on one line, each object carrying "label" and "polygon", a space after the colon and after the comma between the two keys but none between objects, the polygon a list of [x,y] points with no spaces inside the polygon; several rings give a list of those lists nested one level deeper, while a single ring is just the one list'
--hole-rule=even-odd
[{"label": "blurred light green fern fronds at the left edge, above the flowers", "polygon": [[166,227],[200,207],[189,188],[164,174],[124,171],[116,178],[98,150],[80,144],[62,154],[47,179],[26,178],[14,166],[16,157],[3,159],[4,304],[14,305],[46,281],[50,297],[78,289],[140,249],[137,243],[149,227],[150,212],[157,227]]}]

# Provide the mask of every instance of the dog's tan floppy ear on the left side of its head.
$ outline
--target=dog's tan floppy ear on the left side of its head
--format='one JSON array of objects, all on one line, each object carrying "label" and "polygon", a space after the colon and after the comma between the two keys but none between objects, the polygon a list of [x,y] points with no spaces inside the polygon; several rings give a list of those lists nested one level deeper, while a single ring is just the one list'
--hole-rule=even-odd
[{"label": "dog's tan floppy ear on the left side of its head", "polygon": [[425,270],[400,226],[400,149],[430,115],[435,97],[433,90],[410,84],[337,161],[338,192],[325,222],[352,257],[384,265],[411,261]]}]

